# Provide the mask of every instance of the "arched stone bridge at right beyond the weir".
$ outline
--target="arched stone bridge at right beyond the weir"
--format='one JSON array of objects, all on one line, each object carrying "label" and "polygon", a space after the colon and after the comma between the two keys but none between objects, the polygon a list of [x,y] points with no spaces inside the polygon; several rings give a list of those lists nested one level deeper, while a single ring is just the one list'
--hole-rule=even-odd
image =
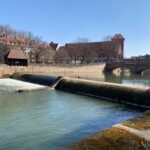
[{"label": "arched stone bridge at right beyond the weir", "polygon": [[108,61],[106,63],[104,72],[112,72],[114,69],[121,68],[129,69],[133,74],[141,74],[144,70],[150,69],[150,61],[124,59],[122,61]]}]

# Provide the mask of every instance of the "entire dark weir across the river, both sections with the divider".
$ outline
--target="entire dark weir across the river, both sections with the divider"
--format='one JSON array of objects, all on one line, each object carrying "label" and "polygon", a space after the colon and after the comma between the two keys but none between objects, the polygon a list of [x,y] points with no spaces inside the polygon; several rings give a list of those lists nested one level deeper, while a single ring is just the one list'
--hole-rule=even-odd
[{"label": "entire dark weir across the river, both sections with the divider", "polygon": [[[31,74],[17,76],[14,75],[13,78],[30,83],[53,87],[56,90],[99,97],[117,103],[138,106],[146,109],[150,108],[150,88],[148,87],[139,88],[115,83]],[[19,92],[24,91],[30,91],[30,88],[26,90],[19,90]]]}]

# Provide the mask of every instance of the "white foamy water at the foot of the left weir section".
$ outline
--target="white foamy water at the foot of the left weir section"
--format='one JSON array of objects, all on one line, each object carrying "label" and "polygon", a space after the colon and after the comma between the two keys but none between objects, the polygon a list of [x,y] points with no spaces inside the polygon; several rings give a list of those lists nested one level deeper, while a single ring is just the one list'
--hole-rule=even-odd
[{"label": "white foamy water at the foot of the left weir section", "polygon": [[46,88],[46,86],[42,86],[39,84],[33,84],[33,83],[28,83],[24,81],[19,81],[19,80],[14,80],[14,79],[0,79],[0,89],[5,90],[5,91],[18,91],[18,90],[25,90],[25,89],[42,89]]}]

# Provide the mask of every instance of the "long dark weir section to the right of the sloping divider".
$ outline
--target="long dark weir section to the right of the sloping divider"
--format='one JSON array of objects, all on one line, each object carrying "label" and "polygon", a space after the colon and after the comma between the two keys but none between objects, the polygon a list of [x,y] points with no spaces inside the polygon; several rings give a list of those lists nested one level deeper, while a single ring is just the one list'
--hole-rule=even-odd
[{"label": "long dark weir section to the right of the sloping divider", "polygon": [[127,105],[150,108],[150,88],[138,88],[106,82],[62,78],[58,90],[70,91],[88,96],[100,97]]}]

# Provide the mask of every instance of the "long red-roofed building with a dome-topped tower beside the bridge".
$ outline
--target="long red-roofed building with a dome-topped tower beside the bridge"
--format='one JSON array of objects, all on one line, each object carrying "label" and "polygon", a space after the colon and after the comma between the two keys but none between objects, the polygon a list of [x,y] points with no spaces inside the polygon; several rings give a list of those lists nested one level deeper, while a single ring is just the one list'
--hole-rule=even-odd
[{"label": "long red-roofed building with a dome-topped tower beside the bridge", "polygon": [[110,41],[67,43],[58,50],[93,51],[97,54],[95,61],[122,60],[124,57],[124,37],[121,34],[114,35]]}]

